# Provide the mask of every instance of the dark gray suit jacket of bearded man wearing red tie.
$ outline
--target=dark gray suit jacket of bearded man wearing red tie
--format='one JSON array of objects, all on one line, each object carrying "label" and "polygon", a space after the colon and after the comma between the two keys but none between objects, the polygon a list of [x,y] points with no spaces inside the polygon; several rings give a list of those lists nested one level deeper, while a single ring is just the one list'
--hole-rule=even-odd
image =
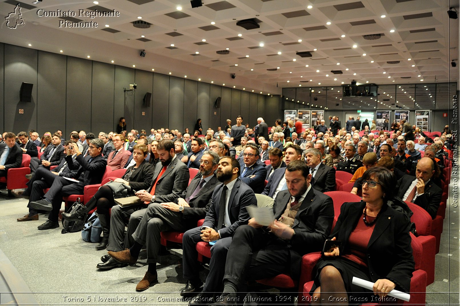
[{"label": "dark gray suit jacket of bearded man wearing red tie", "polygon": [[[163,166],[161,163],[156,164],[155,172],[153,174],[152,186],[155,184],[162,168]],[[155,202],[163,203],[177,200],[187,188],[189,179],[189,168],[187,168],[187,166],[178,158],[175,158],[173,161],[171,161],[171,164],[167,166],[166,171],[160,177],[158,182],[156,182]],[[150,189],[152,186],[150,186]]]}]

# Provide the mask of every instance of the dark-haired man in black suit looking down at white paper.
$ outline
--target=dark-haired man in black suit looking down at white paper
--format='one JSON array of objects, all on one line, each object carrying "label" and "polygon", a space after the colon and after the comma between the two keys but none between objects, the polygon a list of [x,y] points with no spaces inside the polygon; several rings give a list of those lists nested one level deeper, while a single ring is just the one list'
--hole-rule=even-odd
[{"label": "dark-haired man in black suit looking down at white paper", "polygon": [[211,305],[233,305],[248,280],[281,273],[299,279],[302,256],[321,251],[334,220],[332,199],[311,187],[304,162],[294,160],[286,170],[289,189],[276,196],[273,223],[263,227],[252,218],[236,229],[225,263],[224,293]]}]

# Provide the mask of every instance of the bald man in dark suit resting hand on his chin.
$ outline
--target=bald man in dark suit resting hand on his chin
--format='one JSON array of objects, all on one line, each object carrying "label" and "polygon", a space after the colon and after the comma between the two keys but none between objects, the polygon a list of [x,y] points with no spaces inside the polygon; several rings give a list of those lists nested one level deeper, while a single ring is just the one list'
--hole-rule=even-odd
[{"label": "bald man in dark suit resting hand on his chin", "polygon": [[443,190],[431,180],[434,172],[433,160],[423,157],[417,163],[416,177],[403,176],[398,180],[395,188],[398,190],[398,197],[422,207],[432,219],[436,218],[443,194]]}]

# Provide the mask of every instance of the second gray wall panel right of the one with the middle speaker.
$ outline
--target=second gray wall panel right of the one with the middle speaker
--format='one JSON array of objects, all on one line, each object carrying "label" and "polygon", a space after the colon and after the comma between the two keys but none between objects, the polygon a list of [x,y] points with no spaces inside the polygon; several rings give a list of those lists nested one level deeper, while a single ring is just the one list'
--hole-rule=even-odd
[{"label": "second gray wall panel right of the one with the middle speaker", "polygon": [[[188,80],[189,81],[189,80]],[[169,77],[169,129],[183,129],[184,118],[184,79]]]}]

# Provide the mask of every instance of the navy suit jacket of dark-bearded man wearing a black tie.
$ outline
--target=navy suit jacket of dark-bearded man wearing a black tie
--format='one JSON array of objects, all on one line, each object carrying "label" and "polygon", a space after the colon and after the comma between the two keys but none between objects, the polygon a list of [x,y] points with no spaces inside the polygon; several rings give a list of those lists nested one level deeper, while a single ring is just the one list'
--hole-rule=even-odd
[{"label": "navy suit jacket of dark-bearded man wearing a black tie", "polygon": [[[218,225],[220,196],[223,188],[223,183],[214,188],[211,204],[206,213],[203,226],[215,229]],[[249,214],[247,213],[246,206],[249,205],[257,205],[253,189],[237,178],[230,193],[228,211],[226,212],[230,218],[231,225],[219,230],[221,238],[231,237],[238,226],[247,224]]]}]

